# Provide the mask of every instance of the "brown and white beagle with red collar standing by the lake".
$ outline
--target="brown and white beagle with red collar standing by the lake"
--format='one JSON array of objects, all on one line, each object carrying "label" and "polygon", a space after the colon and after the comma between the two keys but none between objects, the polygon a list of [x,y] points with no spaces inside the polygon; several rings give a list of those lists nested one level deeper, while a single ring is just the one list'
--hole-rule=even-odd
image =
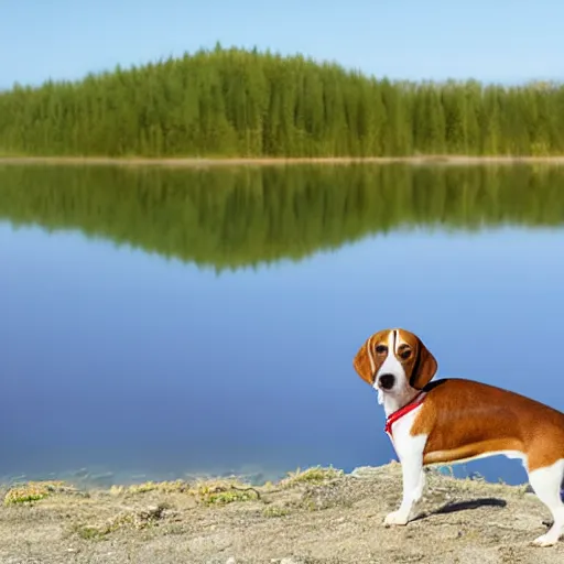
[{"label": "brown and white beagle with red collar standing by the lake", "polygon": [[423,495],[423,467],[503,454],[520,458],[554,523],[533,541],[551,546],[564,534],[564,413],[494,386],[464,379],[431,382],[437,362],[405,329],[373,334],[354,359],[357,373],[378,392],[386,433],[402,467],[403,498],[387,525],[404,525]]}]

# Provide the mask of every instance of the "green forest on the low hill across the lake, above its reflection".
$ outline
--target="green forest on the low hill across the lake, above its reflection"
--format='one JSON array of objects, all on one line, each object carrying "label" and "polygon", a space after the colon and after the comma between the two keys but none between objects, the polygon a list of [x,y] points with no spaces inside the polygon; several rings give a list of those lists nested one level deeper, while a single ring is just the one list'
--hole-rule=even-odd
[{"label": "green forest on the low hill across the lake, above its reflection", "polygon": [[564,153],[564,87],[392,82],[257,50],[200,50],[0,93],[0,154]]}]

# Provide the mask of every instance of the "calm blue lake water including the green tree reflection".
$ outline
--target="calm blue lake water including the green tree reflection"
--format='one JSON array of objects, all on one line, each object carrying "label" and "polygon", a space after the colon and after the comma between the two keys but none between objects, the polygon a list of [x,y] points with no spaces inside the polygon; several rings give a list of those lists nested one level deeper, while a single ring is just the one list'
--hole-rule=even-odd
[{"label": "calm blue lake water including the green tree reflection", "polygon": [[564,410],[563,227],[564,169],[0,167],[0,476],[389,462],[387,326]]}]

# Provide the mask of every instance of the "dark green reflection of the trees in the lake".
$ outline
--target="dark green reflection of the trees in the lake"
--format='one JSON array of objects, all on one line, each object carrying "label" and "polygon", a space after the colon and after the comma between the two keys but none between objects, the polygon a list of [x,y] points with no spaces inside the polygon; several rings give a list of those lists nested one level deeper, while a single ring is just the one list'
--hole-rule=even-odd
[{"label": "dark green reflection of the trees in the lake", "polygon": [[558,167],[0,166],[0,220],[79,229],[217,271],[397,229],[564,225]]}]

